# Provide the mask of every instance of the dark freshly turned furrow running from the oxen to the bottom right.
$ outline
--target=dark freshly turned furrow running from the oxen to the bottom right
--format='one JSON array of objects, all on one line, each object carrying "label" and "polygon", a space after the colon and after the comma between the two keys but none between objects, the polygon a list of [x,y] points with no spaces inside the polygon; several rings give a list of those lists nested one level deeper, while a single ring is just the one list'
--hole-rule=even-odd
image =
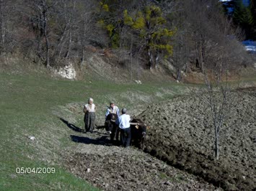
[{"label": "dark freshly turned furrow running from the oxen to the bottom right", "polygon": [[[152,139],[153,137],[153,139]],[[202,177],[206,182],[224,190],[253,190],[252,180],[245,180],[242,172],[234,170],[224,161],[195,152],[182,144],[164,145],[156,134],[146,141],[144,152],[151,154],[172,167]],[[161,137],[161,136],[159,136]]]}]

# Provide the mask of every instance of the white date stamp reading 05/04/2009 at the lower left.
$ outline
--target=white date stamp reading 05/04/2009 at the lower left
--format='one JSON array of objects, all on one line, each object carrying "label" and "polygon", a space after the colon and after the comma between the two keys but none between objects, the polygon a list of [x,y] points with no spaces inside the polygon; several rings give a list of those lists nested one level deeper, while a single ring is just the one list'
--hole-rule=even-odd
[{"label": "white date stamp reading 05/04/2009 at the lower left", "polygon": [[17,167],[17,174],[53,174],[55,173],[54,167]]}]

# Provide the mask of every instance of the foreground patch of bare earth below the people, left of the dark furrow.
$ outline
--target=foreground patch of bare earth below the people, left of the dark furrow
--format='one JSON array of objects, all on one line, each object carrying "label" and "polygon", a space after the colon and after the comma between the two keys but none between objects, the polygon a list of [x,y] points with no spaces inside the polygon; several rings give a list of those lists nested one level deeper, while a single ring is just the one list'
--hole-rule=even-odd
[{"label": "foreground patch of bare earth below the people, left of the dark furrow", "polygon": [[102,190],[216,189],[141,150],[113,146],[104,130],[71,135],[71,140],[77,146],[66,154],[66,168]]}]

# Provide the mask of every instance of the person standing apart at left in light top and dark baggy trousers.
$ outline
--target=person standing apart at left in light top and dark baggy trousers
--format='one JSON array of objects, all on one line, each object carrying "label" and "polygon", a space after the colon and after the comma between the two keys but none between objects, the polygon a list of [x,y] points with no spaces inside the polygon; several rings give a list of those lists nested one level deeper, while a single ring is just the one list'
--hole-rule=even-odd
[{"label": "person standing apart at left in light top and dark baggy trousers", "polygon": [[89,98],[88,103],[84,105],[84,124],[85,131],[92,133],[95,126],[95,111],[96,106],[93,103],[93,99]]}]

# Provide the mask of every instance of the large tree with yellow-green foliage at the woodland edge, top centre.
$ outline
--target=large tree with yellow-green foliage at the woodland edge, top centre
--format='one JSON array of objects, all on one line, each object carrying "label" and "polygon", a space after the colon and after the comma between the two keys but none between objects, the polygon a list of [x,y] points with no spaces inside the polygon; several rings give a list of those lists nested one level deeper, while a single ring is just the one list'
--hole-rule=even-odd
[{"label": "large tree with yellow-green foliage at the woodland edge, top centre", "polygon": [[164,57],[172,55],[171,37],[175,34],[175,29],[168,29],[167,20],[162,16],[162,10],[156,5],[146,5],[136,14],[128,14],[123,11],[124,24],[131,27],[138,37],[143,39],[146,55],[149,61],[149,68],[157,66],[159,54],[162,52]]}]

